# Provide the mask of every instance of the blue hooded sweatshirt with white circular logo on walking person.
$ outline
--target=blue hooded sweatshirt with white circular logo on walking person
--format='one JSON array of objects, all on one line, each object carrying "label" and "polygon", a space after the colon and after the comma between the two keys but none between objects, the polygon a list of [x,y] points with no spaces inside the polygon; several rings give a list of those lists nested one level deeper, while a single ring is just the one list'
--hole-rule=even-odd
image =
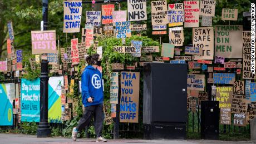
[{"label": "blue hooded sweatshirt with white circular logo on walking person", "polygon": [[[82,73],[82,103],[85,107],[103,103],[102,76],[97,68],[87,66]],[[93,102],[87,101],[89,97]]]}]

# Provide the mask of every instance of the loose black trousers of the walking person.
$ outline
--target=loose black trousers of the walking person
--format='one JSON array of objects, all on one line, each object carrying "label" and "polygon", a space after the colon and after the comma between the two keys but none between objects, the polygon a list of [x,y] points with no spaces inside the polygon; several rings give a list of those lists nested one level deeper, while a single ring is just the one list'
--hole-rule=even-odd
[{"label": "loose black trousers of the walking person", "polygon": [[86,126],[88,126],[92,116],[93,116],[93,125],[95,128],[95,133],[97,137],[101,137],[102,129],[103,129],[103,120],[104,120],[102,103],[99,105],[85,107],[85,112],[83,113],[83,116],[80,118],[78,125],[76,127],[76,130],[81,131]]}]

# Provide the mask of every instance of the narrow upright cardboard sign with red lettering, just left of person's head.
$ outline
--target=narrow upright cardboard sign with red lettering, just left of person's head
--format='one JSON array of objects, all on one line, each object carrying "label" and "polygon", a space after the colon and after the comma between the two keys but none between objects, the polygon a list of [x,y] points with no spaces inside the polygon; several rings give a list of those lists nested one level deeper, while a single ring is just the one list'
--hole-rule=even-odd
[{"label": "narrow upright cardboard sign with red lettering, just left of person's head", "polygon": [[71,60],[72,65],[78,64],[79,55],[78,55],[78,38],[71,39]]}]

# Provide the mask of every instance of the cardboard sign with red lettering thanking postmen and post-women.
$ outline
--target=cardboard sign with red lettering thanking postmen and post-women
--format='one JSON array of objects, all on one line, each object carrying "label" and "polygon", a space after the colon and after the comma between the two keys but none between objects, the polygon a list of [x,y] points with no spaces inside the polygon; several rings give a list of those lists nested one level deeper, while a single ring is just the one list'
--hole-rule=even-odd
[{"label": "cardboard sign with red lettering thanking postmen and post-women", "polygon": [[184,1],[184,27],[199,27],[199,2]]}]

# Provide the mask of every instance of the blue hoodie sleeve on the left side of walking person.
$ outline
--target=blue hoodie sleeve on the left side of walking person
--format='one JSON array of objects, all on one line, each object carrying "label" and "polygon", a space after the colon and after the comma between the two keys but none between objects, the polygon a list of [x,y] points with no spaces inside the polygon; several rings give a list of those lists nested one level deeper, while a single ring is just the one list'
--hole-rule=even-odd
[{"label": "blue hoodie sleeve on the left side of walking person", "polygon": [[85,70],[82,74],[82,99],[86,98],[87,100],[89,97],[89,73]]}]

